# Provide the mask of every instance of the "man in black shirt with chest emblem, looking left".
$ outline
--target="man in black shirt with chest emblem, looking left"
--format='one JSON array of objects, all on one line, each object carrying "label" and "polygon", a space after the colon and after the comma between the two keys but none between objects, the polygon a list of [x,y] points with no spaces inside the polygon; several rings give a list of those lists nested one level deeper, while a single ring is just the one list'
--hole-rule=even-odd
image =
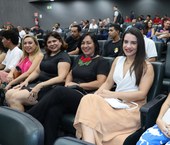
[{"label": "man in black shirt with chest emblem, looking left", "polygon": [[109,26],[109,37],[111,40],[105,42],[102,56],[117,57],[121,54],[120,32],[121,28],[119,24],[111,24]]}]

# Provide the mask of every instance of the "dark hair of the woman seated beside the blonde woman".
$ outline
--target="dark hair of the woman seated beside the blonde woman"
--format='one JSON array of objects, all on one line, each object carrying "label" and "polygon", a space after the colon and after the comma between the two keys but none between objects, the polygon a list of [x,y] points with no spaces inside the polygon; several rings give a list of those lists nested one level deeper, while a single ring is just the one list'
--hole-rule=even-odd
[{"label": "dark hair of the woman seated beside the blonde woman", "polygon": [[68,45],[67,45],[67,44],[65,43],[65,41],[62,39],[62,37],[60,36],[60,34],[59,34],[58,32],[56,32],[56,31],[52,31],[52,32],[47,33],[47,35],[44,37],[44,40],[45,40],[45,50],[46,50],[46,52],[47,52],[48,55],[51,54],[51,51],[47,48],[47,41],[48,41],[48,38],[49,38],[50,36],[58,39],[58,40],[62,43],[61,48],[60,48],[61,51],[64,51],[64,50],[67,49]]}]

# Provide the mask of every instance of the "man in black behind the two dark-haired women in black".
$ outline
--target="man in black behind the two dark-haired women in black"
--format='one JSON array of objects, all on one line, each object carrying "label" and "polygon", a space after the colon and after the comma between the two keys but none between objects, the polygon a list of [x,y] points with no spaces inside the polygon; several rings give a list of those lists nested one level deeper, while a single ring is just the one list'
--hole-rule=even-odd
[{"label": "man in black behind the two dark-haired women in black", "polygon": [[67,52],[71,55],[76,55],[79,53],[79,48],[77,47],[81,38],[81,27],[79,25],[73,25],[71,27],[71,35],[66,38],[66,43],[68,44]]}]

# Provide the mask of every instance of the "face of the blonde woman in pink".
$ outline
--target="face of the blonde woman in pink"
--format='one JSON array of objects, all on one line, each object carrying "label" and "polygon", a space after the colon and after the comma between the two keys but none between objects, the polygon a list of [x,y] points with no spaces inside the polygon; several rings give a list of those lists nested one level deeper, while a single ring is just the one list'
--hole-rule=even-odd
[{"label": "face of the blonde woman in pink", "polygon": [[33,38],[31,37],[26,37],[24,39],[24,43],[23,43],[23,47],[24,47],[24,51],[27,54],[33,54],[35,52],[35,50],[37,49],[37,45],[35,43],[35,41],[33,40]]}]

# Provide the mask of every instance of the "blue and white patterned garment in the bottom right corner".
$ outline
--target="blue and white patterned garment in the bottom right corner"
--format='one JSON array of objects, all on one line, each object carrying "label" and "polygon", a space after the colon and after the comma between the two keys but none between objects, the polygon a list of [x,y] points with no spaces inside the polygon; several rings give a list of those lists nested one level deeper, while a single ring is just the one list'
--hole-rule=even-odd
[{"label": "blue and white patterned garment in the bottom right corner", "polygon": [[158,125],[148,128],[140,137],[136,145],[170,145],[170,138],[166,137]]}]

